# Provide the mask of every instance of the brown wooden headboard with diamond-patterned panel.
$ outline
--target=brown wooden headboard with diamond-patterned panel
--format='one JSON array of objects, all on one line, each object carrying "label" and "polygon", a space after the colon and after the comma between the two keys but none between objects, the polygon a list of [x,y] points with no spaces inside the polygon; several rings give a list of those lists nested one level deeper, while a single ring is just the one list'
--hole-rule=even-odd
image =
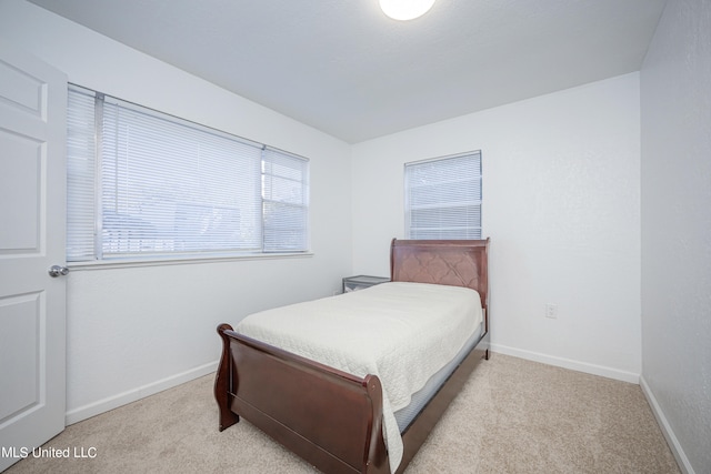
[{"label": "brown wooden headboard with diamond-patterned panel", "polygon": [[474,289],[489,306],[489,239],[398,240],[390,244],[390,280]]}]

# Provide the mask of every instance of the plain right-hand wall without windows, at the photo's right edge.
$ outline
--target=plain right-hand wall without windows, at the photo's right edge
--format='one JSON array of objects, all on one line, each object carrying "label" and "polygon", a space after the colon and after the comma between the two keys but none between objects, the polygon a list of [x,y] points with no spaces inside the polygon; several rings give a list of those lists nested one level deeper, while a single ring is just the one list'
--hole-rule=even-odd
[{"label": "plain right-hand wall without windows, at the photo's right edge", "polygon": [[[670,0],[641,70],[642,387],[711,472],[711,3]],[[682,448],[683,447],[683,448]]]}]

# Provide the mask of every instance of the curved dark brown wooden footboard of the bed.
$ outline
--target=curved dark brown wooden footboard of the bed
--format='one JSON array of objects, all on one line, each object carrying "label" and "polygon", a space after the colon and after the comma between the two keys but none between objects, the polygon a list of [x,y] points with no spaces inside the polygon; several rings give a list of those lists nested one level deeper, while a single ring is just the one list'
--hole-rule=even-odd
[{"label": "curved dark brown wooden footboard of the bed", "polygon": [[218,326],[220,431],[243,416],[328,473],[389,473],[382,386]]}]

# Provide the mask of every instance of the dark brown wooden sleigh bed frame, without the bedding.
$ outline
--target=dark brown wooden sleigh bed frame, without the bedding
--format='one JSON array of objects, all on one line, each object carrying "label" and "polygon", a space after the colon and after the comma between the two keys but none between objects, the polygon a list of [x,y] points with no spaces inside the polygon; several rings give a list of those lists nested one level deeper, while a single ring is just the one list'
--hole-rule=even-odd
[{"label": "dark brown wooden sleigh bed frame, without the bedding", "polygon": [[[489,240],[392,240],[392,281],[467,286],[481,296],[479,343],[402,431],[402,473],[482,359],[489,359]],[[338,297],[338,296],[337,296]],[[243,416],[324,473],[390,473],[382,387],[218,326],[223,349],[214,382],[220,431]]]}]

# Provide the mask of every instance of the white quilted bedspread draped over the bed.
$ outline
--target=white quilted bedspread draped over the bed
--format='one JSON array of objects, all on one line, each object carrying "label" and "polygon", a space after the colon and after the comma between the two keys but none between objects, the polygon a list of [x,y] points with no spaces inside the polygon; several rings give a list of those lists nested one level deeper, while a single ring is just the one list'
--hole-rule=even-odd
[{"label": "white quilted bedspread draped over the bed", "polygon": [[393,412],[454,357],[481,320],[474,290],[391,282],[256,313],[236,331],[352,375],[377,375],[394,473],[402,437]]}]

